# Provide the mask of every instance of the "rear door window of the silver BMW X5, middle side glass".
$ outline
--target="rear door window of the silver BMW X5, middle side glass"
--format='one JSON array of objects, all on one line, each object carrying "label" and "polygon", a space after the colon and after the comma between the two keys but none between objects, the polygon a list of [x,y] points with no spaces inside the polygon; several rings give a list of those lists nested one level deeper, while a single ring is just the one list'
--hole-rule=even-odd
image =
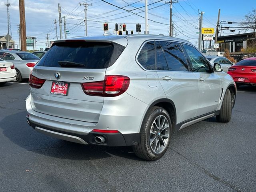
[{"label": "rear door window of the silver BMW X5, middle side glass", "polygon": [[170,71],[188,71],[188,64],[180,44],[160,42]]}]

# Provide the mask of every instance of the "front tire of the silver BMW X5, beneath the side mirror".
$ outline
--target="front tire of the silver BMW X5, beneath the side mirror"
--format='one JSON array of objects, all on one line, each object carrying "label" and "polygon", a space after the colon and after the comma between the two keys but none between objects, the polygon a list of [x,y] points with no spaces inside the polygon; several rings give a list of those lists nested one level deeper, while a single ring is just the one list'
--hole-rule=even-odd
[{"label": "front tire of the silver BMW X5, beneath the side mirror", "polygon": [[218,122],[229,122],[232,113],[232,98],[230,90],[227,89],[223,98],[222,106],[220,108],[220,114],[216,116]]}]

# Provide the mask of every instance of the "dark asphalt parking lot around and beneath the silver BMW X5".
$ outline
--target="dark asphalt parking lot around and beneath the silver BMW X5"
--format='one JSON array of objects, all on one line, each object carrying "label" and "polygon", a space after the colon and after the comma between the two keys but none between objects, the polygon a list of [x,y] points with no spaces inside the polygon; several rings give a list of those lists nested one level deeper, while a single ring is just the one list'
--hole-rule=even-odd
[{"label": "dark asphalt parking lot around and beneath the silver BMW X5", "polygon": [[158,161],[130,147],[81,145],[26,122],[28,84],[0,87],[0,191],[256,191],[256,87],[241,86],[229,123],[204,120],[172,135]]}]

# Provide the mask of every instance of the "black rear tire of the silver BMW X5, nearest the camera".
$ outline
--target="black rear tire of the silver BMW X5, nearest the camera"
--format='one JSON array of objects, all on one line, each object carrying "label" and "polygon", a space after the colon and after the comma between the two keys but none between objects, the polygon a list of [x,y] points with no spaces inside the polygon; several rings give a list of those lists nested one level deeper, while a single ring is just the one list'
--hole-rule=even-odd
[{"label": "black rear tire of the silver BMW X5, nearest the camera", "polygon": [[[165,121],[168,120],[168,128],[169,129],[166,128],[166,129],[162,130],[162,132],[165,132],[164,134],[168,134],[168,139],[166,142],[164,142],[163,139],[162,140],[160,139],[161,136],[164,136],[164,134],[162,135],[162,133],[161,133],[161,136],[156,134],[155,138],[157,138],[157,136],[158,136],[158,141],[155,139],[153,139],[153,140],[156,142],[156,146],[159,143],[159,148],[158,148],[159,153],[155,153],[154,150],[152,149],[152,143],[154,143],[154,142],[152,142],[150,144],[150,136],[152,135],[152,134],[150,134],[150,131],[153,126],[153,123],[156,122],[156,118],[158,118],[159,116],[160,116],[159,120],[161,120],[161,117],[162,118],[165,117],[164,118]],[[163,124],[164,124],[164,122],[163,122]],[[162,126],[162,128],[163,128],[163,126]],[[160,130],[160,129],[158,129],[158,130]],[[161,131],[158,131],[158,133],[159,132],[161,132]],[[172,134],[172,123],[171,123],[170,116],[169,116],[168,112],[162,107],[152,107],[150,109],[150,111],[148,112],[148,114],[146,114],[146,116],[144,118],[140,133],[141,133],[141,135],[140,135],[139,143],[137,145],[133,146],[133,150],[134,150],[134,153],[136,154],[136,156],[138,156],[139,158],[145,159],[145,160],[149,160],[149,161],[154,161],[154,160],[160,159],[165,154],[166,150],[168,149],[168,146],[170,144],[171,134]],[[163,150],[160,151],[160,143],[162,143],[162,142],[164,142],[165,146],[163,146],[164,147]]]}]

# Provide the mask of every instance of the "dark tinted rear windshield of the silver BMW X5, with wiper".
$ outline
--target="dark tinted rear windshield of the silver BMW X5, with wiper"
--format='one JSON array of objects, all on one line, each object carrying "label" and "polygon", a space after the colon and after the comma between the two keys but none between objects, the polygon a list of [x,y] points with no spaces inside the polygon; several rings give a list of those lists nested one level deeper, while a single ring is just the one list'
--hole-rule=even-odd
[{"label": "dark tinted rear windshield of the silver BMW X5, with wiper", "polygon": [[106,42],[60,42],[54,44],[37,65],[48,67],[100,69],[111,66],[124,46]]}]

